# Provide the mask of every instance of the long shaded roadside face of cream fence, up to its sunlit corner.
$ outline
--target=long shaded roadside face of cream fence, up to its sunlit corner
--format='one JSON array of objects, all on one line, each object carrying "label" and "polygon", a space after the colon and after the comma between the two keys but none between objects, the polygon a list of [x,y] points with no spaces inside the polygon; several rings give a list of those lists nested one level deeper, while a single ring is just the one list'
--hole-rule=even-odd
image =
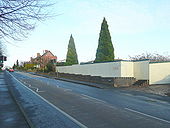
[{"label": "long shaded roadside face of cream fence, up to its sunlit corner", "polygon": [[59,66],[58,72],[102,77],[121,77],[121,62]]}]

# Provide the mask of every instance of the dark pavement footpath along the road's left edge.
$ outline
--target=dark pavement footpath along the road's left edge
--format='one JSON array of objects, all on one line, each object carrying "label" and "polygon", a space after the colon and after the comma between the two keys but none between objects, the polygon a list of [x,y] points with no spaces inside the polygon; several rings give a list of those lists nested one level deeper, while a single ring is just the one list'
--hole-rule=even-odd
[{"label": "dark pavement footpath along the road's left edge", "polygon": [[4,72],[0,72],[0,127],[29,128],[23,113],[12,96],[10,85],[7,85]]}]

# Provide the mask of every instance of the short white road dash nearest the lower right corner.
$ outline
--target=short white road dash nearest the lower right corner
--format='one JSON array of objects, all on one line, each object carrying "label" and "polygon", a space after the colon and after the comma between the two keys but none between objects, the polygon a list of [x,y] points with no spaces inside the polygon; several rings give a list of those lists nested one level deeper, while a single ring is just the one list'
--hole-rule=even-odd
[{"label": "short white road dash nearest the lower right corner", "polygon": [[168,121],[168,120],[164,120],[164,119],[161,119],[161,118],[158,118],[158,117],[155,117],[155,116],[151,116],[149,114],[145,114],[145,113],[142,113],[142,112],[130,109],[130,108],[125,108],[125,109],[128,110],[128,111],[131,111],[131,112],[134,112],[134,113],[138,113],[138,114],[141,114],[141,115],[144,115],[144,116],[147,116],[147,117],[150,117],[150,118],[153,118],[153,119],[156,119],[156,120],[159,120],[159,121],[163,121],[163,122],[166,122],[166,123],[170,124],[170,121]]}]

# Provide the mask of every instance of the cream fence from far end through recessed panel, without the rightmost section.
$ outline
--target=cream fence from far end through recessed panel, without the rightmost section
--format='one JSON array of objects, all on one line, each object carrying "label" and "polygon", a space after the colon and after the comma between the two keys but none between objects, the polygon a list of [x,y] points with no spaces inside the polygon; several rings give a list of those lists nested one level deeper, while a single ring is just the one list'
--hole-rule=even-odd
[{"label": "cream fence from far end through recessed panel, without the rightmost section", "polygon": [[101,77],[135,77],[148,78],[148,61],[107,62],[72,66],[58,66],[56,70],[61,73],[82,74]]}]

